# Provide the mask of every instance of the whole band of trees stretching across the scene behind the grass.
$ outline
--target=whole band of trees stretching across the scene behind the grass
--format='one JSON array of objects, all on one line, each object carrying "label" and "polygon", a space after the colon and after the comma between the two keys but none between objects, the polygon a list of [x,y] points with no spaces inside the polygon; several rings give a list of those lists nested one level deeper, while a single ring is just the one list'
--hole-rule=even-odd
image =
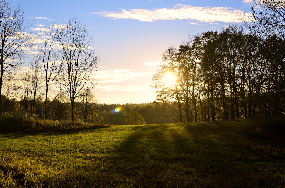
[{"label": "whole band of trees stretching across the scene behind the grass", "polygon": [[[93,36],[81,20],[51,23],[33,34],[19,4],[13,7],[0,0],[0,5],[1,113],[13,109],[34,113],[44,106],[44,119],[87,121],[93,112],[97,115],[91,119],[110,124],[124,124],[133,111],[146,123],[284,114],[285,5],[281,0],[254,0],[249,21],[241,26],[197,34],[179,48],[169,47],[152,78],[156,101],[141,107],[121,105],[118,113],[113,111],[116,105],[99,106],[92,95],[99,58],[91,47]],[[175,75],[172,85],[163,82],[168,72]]]}]

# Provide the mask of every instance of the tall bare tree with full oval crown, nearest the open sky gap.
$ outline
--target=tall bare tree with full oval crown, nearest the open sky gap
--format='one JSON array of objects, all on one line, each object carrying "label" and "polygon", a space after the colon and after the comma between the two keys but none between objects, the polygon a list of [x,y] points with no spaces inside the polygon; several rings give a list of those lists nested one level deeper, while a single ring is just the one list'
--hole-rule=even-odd
[{"label": "tall bare tree with full oval crown, nearest the open sky gap", "polygon": [[90,81],[90,76],[93,69],[97,68],[99,59],[91,47],[93,37],[89,36],[88,27],[78,18],[75,17],[63,23],[57,36],[64,61],[60,74],[61,86],[62,91],[70,98],[73,122],[75,99]]}]

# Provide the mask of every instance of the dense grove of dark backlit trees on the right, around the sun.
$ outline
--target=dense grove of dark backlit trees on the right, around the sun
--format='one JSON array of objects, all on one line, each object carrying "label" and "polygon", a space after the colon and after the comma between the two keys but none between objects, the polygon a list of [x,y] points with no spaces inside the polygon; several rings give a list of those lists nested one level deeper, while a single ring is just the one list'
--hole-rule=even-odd
[{"label": "dense grove of dark backlit trees on the right, around the sun", "polygon": [[250,22],[169,47],[152,77],[157,103],[175,104],[180,122],[284,115],[284,13],[282,1],[256,0]]}]

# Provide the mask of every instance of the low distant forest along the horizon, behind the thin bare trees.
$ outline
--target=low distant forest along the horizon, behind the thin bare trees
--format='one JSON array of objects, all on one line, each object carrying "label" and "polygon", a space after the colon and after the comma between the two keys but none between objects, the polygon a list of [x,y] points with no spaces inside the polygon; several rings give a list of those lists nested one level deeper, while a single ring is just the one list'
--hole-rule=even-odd
[{"label": "low distant forest along the horizon, behind the thin bare trees", "polygon": [[[2,96],[2,106],[5,107],[6,112],[21,111],[22,102],[17,100],[7,100],[5,96]],[[36,106],[42,106],[42,101],[37,101]],[[83,106],[87,104],[87,109]],[[66,121],[70,120],[70,103],[64,95],[60,95],[54,101],[48,101],[49,113],[48,119]],[[97,104],[97,103],[80,103],[75,104],[75,119],[88,123],[103,123],[113,125],[125,125],[126,118],[133,111],[139,112],[146,124],[160,124],[160,123],[175,123],[179,122],[179,116],[173,113],[172,108],[176,105],[165,106],[165,108],[158,108],[155,103],[126,103],[126,104]],[[115,110],[117,109],[117,110]],[[28,106],[30,112],[31,106]],[[26,112],[28,112],[26,111]],[[25,111],[23,111],[25,112]],[[44,112],[43,112],[44,113]],[[44,114],[40,116],[44,119]]]}]

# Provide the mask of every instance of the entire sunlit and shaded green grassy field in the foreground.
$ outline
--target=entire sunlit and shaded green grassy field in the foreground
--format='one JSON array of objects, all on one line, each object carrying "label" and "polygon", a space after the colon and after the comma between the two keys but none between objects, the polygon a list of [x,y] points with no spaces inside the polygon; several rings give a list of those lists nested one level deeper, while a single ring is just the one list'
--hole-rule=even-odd
[{"label": "entire sunlit and shaded green grassy field in the foreground", "polygon": [[0,133],[0,187],[285,187],[284,136],[241,122]]}]

